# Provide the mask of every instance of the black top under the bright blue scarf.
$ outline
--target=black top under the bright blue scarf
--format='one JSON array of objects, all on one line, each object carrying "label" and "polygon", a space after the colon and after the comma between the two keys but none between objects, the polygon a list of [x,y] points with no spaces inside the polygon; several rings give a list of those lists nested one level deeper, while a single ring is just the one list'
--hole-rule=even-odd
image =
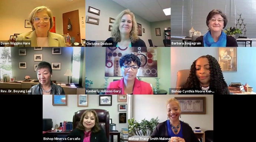
[{"label": "black top under the bright blue scarf", "polygon": [[[226,47],[237,47],[237,46],[238,46],[238,45],[237,45],[237,42],[236,42],[236,39],[235,39],[234,37],[232,37],[232,36],[230,36],[230,35],[226,35],[226,36],[227,36],[227,44],[226,44]],[[194,41],[194,42],[200,42],[201,45],[196,44],[196,45],[194,45],[193,47],[203,47],[203,46],[204,46],[203,37],[204,37],[204,36],[202,35],[202,36],[198,37],[198,38],[196,39],[196,41]]]}]

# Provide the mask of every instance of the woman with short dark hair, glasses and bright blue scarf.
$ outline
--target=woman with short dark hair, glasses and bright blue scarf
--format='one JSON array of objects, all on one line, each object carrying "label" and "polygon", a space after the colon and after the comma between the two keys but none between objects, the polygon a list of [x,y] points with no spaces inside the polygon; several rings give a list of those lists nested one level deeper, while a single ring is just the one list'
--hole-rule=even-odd
[{"label": "woman with short dark hair, glasses and bright blue scarf", "polygon": [[227,25],[227,17],[220,10],[211,10],[206,18],[208,32],[196,39],[196,46],[204,47],[237,47],[236,39],[226,35],[223,30]]}]

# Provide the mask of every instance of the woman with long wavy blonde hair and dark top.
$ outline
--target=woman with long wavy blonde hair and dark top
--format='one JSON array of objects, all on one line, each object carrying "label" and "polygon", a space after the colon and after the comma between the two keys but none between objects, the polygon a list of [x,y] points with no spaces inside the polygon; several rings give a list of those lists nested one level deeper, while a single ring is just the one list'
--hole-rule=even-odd
[{"label": "woman with long wavy blonde hair and dark top", "polygon": [[129,9],[122,11],[116,17],[111,38],[105,41],[105,43],[112,42],[113,47],[146,47],[145,42],[138,37],[137,22]]}]

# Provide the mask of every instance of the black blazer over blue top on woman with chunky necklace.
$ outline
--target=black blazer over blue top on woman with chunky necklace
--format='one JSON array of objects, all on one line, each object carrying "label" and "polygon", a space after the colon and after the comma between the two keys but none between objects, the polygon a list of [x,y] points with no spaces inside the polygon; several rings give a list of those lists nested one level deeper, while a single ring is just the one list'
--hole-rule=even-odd
[{"label": "black blazer over blue top on woman with chunky necklace", "polygon": [[[167,128],[166,128],[166,121],[160,123],[157,125],[157,127],[154,129],[152,135],[150,136],[150,138],[154,138],[157,136],[165,136],[167,137]],[[196,135],[194,134],[192,128],[185,124],[184,122],[180,121],[180,125],[182,127],[182,135],[183,135],[183,139],[185,139],[186,142],[200,142],[198,141],[198,139],[196,138]],[[154,140],[148,140],[148,142],[156,142]],[[158,141],[158,142],[168,142],[168,140],[162,140],[162,141]]]}]

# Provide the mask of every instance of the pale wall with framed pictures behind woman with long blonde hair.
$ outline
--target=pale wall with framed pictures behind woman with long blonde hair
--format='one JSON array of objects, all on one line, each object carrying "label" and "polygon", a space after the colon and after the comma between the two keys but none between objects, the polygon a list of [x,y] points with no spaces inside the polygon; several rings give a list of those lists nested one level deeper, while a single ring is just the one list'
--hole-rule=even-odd
[{"label": "pale wall with framed pictures behind woman with long blonde hair", "polygon": [[[88,7],[91,6],[100,11],[100,15],[88,13]],[[85,11],[86,16],[99,18],[99,25],[93,25],[86,23],[86,40],[101,40],[105,41],[111,37],[111,32],[108,31],[109,17],[116,18],[116,16],[127,8],[115,3],[112,0],[86,0]],[[134,13],[135,14],[135,13]],[[136,22],[141,24],[141,28],[145,29],[145,33],[142,32],[142,36],[139,36],[149,46],[148,39],[151,39],[151,27],[150,22],[135,14]]]}]

